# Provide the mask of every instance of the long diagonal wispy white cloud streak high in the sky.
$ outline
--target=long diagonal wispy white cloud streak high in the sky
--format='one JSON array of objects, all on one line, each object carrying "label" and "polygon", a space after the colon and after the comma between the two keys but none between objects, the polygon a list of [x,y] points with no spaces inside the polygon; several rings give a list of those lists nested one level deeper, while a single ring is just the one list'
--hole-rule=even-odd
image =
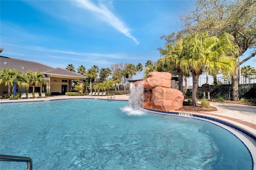
[{"label": "long diagonal wispy white cloud streak high in the sky", "polygon": [[137,45],[139,44],[138,40],[136,38],[134,38],[134,36],[131,35],[130,28],[126,27],[124,22],[122,22],[119,18],[117,18],[103,4],[100,4],[99,6],[96,6],[95,4],[93,4],[92,2],[87,1],[87,0],[78,0],[78,1],[75,1],[75,2],[78,4],[78,6],[80,8],[85,8],[85,9],[90,10],[90,11],[96,13],[96,14],[100,14],[101,17],[103,17],[104,20],[108,24],[110,24],[111,26],[116,28],[118,31],[120,31],[125,36],[134,40],[134,42],[136,42]]}]

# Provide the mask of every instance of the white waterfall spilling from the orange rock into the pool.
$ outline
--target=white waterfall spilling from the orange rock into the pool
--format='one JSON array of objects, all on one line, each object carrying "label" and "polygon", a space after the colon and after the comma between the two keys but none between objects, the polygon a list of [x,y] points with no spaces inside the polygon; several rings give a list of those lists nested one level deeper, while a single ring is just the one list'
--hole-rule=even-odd
[{"label": "white waterfall spilling from the orange rock into the pool", "polygon": [[129,97],[129,103],[121,108],[122,111],[128,115],[143,115],[145,112],[142,110],[144,107],[144,86],[143,82],[137,86],[133,85]]}]

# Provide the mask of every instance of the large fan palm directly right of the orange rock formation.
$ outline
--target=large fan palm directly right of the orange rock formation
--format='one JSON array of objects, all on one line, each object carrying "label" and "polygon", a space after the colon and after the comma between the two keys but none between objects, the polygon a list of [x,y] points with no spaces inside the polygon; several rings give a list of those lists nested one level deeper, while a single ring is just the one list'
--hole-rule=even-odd
[{"label": "large fan palm directly right of the orange rock formation", "polygon": [[192,73],[192,106],[197,106],[196,91],[203,70],[234,73],[237,64],[235,54],[240,51],[233,40],[234,37],[227,33],[209,37],[207,32],[192,33],[183,38],[184,56],[180,68],[184,73]]}]

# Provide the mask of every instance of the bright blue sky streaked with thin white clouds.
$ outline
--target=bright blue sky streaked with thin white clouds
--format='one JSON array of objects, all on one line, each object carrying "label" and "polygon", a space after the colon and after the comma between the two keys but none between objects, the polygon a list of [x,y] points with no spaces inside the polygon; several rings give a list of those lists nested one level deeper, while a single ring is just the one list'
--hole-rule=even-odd
[{"label": "bright blue sky streaked with thin white clouds", "polygon": [[1,55],[64,69],[68,64],[86,70],[112,63],[144,66],[160,58],[160,36],[180,30],[179,16],[194,2],[1,0]]}]

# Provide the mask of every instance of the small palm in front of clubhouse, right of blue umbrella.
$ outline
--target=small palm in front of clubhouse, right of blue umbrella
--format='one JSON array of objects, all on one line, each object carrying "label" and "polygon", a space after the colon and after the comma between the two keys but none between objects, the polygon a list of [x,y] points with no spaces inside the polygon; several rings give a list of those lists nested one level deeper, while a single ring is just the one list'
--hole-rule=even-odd
[{"label": "small palm in front of clubhouse, right of blue umbrella", "polygon": [[43,80],[45,75],[42,74],[40,71],[33,72],[31,70],[28,70],[28,72],[25,74],[25,76],[26,76],[27,83],[31,84],[33,87],[32,93],[35,93],[35,85],[47,84],[46,81]]}]

